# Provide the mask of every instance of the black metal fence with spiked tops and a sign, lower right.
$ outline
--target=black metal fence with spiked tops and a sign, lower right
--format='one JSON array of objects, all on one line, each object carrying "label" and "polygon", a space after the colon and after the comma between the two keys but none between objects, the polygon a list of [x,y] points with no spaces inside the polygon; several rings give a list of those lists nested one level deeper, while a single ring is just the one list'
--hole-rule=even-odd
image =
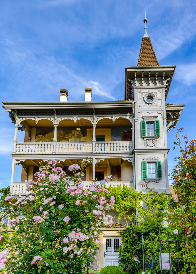
[{"label": "black metal fence with spiked tops and a sign, lower right", "polygon": [[[152,273],[154,274],[153,243],[159,243],[159,248],[160,248],[159,263],[160,263],[161,274],[163,274],[164,269],[168,269],[170,271],[170,274],[171,274],[172,265],[171,265],[170,244],[172,242],[176,242],[176,251],[179,252],[179,250],[178,250],[179,241],[178,240],[170,240],[169,239],[169,231],[167,231],[167,240],[162,240],[161,239],[160,230],[159,230],[159,233],[158,233],[158,239],[159,240],[156,240],[156,241],[152,240],[152,235],[153,235],[152,231],[149,234],[150,234],[150,241],[145,241],[144,238],[143,238],[143,233],[141,233],[141,235],[142,235],[142,253],[143,253],[143,273],[145,273],[145,269],[150,269],[150,270],[152,270]],[[167,264],[167,267],[169,267],[169,268],[165,268],[166,266],[163,266],[163,254],[166,254],[166,253],[163,253],[161,251],[161,243],[164,243],[164,242],[167,243],[167,245],[168,245],[168,257],[169,257],[169,261],[167,261],[167,263],[164,263],[164,264]],[[152,261],[152,263],[145,262],[145,260],[144,260],[145,243],[149,243],[151,245],[151,261]],[[178,269],[178,272],[179,272],[180,271],[179,257],[177,258],[177,269]]]}]

